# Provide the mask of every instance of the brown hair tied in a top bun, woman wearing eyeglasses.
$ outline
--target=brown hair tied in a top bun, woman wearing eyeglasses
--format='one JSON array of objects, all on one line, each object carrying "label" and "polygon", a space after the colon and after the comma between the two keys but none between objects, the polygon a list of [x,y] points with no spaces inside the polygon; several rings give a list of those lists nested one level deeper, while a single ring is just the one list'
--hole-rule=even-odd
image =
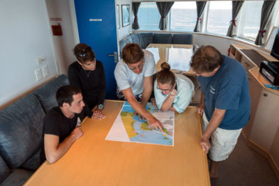
[{"label": "brown hair tied in a top bun, woman wearing eyeglasses", "polygon": [[166,62],[161,64],[162,70],[157,73],[157,81],[160,84],[171,84],[174,85],[175,75],[174,72],[170,71],[170,65]]}]

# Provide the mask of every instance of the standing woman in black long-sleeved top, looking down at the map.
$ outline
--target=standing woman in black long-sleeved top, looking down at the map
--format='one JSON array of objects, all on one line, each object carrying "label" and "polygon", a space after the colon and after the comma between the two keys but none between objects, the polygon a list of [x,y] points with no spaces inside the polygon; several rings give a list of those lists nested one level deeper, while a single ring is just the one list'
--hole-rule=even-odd
[{"label": "standing woman in black long-sleeved top, looking down at the map", "polygon": [[[68,68],[70,85],[82,90],[83,100],[93,109],[103,109],[105,100],[105,70],[103,63],[96,60],[95,53],[84,43],[77,44],[73,49],[77,61]],[[96,113],[94,113],[96,114]]]}]

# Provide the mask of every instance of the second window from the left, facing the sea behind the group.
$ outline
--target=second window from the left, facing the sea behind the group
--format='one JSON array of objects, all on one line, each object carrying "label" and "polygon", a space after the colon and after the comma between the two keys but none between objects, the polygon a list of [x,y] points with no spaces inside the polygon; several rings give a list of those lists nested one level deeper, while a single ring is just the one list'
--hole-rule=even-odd
[{"label": "second window from the left, facing the sea behind the group", "polygon": [[195,1],[176,1],[170,10],[169,30],[193,31],[197,21],[197,5]]}]

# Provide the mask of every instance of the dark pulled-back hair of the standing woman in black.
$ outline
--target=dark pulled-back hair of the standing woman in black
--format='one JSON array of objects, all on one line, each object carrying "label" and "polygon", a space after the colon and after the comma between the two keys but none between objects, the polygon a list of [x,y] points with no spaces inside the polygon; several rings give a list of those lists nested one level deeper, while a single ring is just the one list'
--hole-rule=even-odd
[{"label": "dark pulled-back hair of the standing woman in black", "polygon": [[91,47],[84,43],[75,45],[73,52],[75,54],[75,57],[77,58],[77,61],[80,61],[80,63],[86,63],[87,61],[95,60],[95,53],[93,52]]}]

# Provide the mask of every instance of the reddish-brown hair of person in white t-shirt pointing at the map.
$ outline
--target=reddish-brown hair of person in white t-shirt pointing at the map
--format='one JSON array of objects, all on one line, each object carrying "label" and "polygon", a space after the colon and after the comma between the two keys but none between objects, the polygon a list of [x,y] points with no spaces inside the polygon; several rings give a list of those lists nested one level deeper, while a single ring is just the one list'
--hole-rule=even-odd
[{"label": "reddish-brown hair of person in white t-shirt pointing at the map", "polygon": [[144,58],[144,52],[137,43],[128,43],[122,51],[122,59],[125,63],[137,63]]}]

